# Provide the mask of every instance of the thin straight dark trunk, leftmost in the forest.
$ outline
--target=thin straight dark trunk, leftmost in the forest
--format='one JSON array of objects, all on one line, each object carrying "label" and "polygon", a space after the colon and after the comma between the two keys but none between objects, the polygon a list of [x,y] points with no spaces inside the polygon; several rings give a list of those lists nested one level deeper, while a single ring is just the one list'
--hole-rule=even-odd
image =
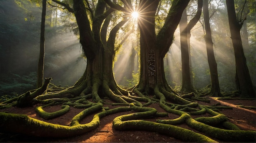
[{"label": "thin straight dark trunk, leftmost in the forest", "polygon": [[39,88],[43,85],[43,72],[45,61],[45,15],[46,15],[46,0],[43,0],[42,18],[41,18],[41,33],[40,33],[40,53],[37,69],[37,85]]}]

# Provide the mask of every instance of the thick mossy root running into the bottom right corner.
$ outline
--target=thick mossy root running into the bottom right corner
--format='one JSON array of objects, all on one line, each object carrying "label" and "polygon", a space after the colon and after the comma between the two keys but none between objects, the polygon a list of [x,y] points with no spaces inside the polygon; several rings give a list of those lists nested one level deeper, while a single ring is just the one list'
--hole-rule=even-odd
[{"label": "thick mossy root running into the bottom right corner", "polygon": [[186,120],[186,123],[190,127],[200,132],[204,132],[208,136],[211,136],[212,138],[215,139],[219,139],[220,141],[256,141],[256,131],[220,129],[195,121],[193,118],[188,118]]}]

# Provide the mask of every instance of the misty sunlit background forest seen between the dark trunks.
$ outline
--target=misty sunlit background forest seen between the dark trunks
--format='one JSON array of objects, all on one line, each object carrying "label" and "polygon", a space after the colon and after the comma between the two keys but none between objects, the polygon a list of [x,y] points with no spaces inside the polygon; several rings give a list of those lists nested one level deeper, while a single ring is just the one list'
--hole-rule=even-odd
[{"label": "misty sunlit background forest seen between the dark trunks", "polygon": [[[209,10],[212,17],[211,30],[214,54],[218,64],[221,91],[236,90],[235,58],[227,19],[225,2],[212,0]],[[196,7],[190,5],[193,15]],[[194,10],[194,11],[193,11]],[[20,95],[36,88],[36,70],[40,44],[40,21],[42,7],[29,0],[0,0],[0,96]],[[189,17],[189,16],[188,16]],[[195,89],[211,84],[202,19],[191,30],[192,82]],[[86,59],[82,56],[75,18],[57,7],[47,4],[45,23],[45,69],[44,76],[52,77],[54,85],[72,86],[83,75]],[[241,29],[243,49],[247,66],[256,85],[256,37],[255,10],[247,16]],[[133,37],[132,37],[133,36]],[[113,67],[115,79],[120,86],[133,86],[139,81],[138,41],[131,34],[116,54]],[[168,84],[179,90],[182,84],[180,32],[164,58]],[[130,51],[133,51],[131,54]],[[130,67],[129,58],[135,62]],[[129,70],[128,70],[129,69]],[[130,71],[132,69],[132,71]]]}]

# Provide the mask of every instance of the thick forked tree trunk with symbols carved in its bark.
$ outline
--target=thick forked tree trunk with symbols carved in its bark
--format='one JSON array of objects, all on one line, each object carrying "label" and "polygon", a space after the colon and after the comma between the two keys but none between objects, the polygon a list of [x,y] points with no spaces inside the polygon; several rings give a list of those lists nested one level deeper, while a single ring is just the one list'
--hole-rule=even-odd
[{"label": "thick forked tree trunk with symbols carved in its bark", "polygon": [[[140,0],[138,26],[140,29],[141,69],[139,84],[134,90],[137,94],[146,92],[148,95],[162,96],[164,93],[168,98],[176,101],[180,99],[166,82],[163,59],[173,42],[174,31],[188,3],[189,0],[174,0],[163,27],[156,35],[155,13],[159,0]],[[184,100],[177,102],[187,103]]]}]

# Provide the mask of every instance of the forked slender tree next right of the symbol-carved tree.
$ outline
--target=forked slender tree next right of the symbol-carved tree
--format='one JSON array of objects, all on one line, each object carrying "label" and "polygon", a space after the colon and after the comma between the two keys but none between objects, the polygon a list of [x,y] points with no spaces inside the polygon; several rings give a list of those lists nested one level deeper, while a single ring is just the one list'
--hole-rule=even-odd
[{"label": "forked slender tree next right of the symbol-carved tree", "polygon": [[191,65],[190,65],[190,37],[191,29],[195,26],[201,17],[202,13],[202,0],[198,0],[198,11],[195,16],[189,21],[187,25],[186,9],[182,14],[180,20],[180,48],[181,48],[181,60],[182,60],[182,92],[195,92],[192,85],[191,78]]}]

